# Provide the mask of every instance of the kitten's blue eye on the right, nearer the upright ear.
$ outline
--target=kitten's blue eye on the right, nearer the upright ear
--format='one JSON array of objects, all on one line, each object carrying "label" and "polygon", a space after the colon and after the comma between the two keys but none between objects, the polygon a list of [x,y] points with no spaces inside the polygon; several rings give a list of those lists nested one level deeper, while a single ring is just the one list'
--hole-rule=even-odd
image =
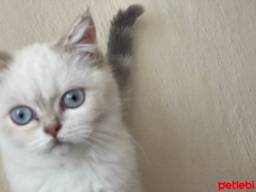
[{"label": "kitten's blue eye on the right, nearer the upright ear", "polygon": [[73,89],[66,92],[61,100],[61,104],[65,108],[77,108],[84,102],[84,90]]}]

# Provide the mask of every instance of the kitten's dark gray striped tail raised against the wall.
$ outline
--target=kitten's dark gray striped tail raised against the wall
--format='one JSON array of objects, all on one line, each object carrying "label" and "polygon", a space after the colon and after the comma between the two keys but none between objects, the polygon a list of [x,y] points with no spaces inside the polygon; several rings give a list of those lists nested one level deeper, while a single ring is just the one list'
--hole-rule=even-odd
[{"label": "kitten's dark gray striped tail raised against the wall", "polygon": [[121,93],[126,88],[131,70],[132,25],[143,12],[143,6],[133,4],[124,11],[119,10],[111,21],[108,60]]}]

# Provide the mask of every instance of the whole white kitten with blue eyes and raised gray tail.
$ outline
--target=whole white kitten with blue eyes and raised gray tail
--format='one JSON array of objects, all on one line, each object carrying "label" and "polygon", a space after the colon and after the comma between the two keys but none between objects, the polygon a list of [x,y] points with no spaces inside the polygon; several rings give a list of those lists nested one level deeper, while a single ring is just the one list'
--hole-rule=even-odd
[{"label": "whole white kitten with blue eyes and raised gray tail", "polygon": [[111,22],[108,59],[88,12],[51,44],[0,53],[0,146],[13,192],[141,192],[119,95],[127,85],[131,5]]}]

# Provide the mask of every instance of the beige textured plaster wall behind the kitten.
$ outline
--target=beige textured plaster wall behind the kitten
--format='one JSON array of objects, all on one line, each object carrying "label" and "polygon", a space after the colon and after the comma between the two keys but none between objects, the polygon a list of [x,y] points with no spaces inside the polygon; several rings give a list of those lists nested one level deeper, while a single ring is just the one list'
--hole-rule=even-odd
[{"label": "beige textured plaster wall behind the kitten", "polygon": [[1,0],[0,49],[53,39],[88,3],[105,50],[112,15],[138,2],[128,124],[148,156],[147,191],[255,180],[256,1]]}]

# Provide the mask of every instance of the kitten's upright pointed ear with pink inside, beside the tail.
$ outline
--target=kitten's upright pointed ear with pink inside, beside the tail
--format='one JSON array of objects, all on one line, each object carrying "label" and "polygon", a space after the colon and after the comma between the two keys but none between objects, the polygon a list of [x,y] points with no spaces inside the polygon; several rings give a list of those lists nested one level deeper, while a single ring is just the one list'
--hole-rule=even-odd
[{"label": "kitten's upright pointed ear with pink inside, beside the tail", "polygon": [[62,44],[65,51],[89,53],[90,56],[97,57],[96,31],[89,11],[78,18],[60,42],[59,44]]}]

